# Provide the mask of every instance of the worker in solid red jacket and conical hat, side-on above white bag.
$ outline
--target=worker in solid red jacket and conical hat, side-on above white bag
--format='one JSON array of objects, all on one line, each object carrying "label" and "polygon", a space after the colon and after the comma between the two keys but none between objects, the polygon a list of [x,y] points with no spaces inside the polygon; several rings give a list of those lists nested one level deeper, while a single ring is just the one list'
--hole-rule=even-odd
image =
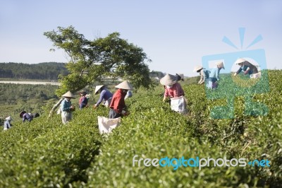
[{"label": "worker in solid red jacket and conical hat, side-on above white bag", "polygon": [[118,90],[114,93],[110,104],[109,118],[111,119],[128,115],[128,112],[125,111],[124,98],[128,90],[133,90],[133,86],[128,81],[123,81],[115,88]]}]

